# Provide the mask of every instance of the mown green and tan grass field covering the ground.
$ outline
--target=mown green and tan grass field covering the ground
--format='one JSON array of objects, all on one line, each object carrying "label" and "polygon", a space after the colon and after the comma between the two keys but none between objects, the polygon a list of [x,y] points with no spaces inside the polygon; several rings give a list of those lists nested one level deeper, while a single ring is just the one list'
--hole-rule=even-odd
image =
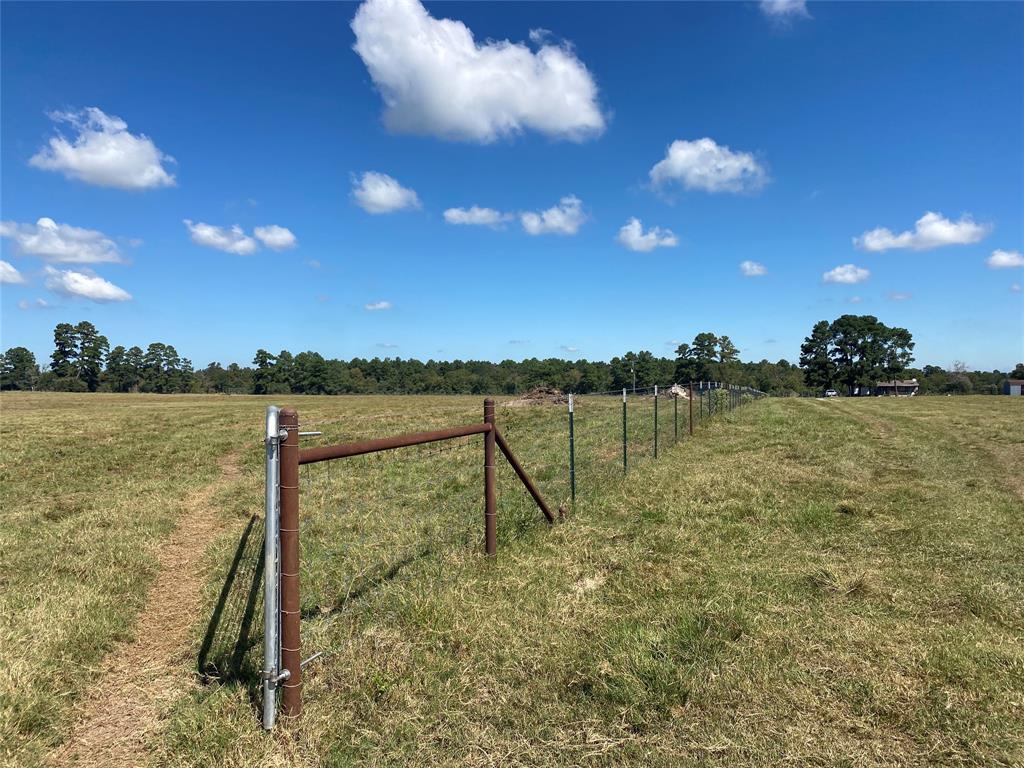
[{"label": "mown green and tan grass field covering the ground", "polygon": [[[479,397],[275,400],[331,441],[481,415]],[[624,479],[621,403],[584,399],[575,508],[549,527],[501,469],[494,561],[478,438],[306,467],[303,644],[327,655],[273,736],[253,587],[266,404],[3,394],[0,759],[1024,764],[1019,400],[760,400],[676,445],[663,413],[657,462],[638,404]],[[498,417],[555,505],[564,417]],[[82,726],[112,707],[134,734],[120,753],[97,745],[125,740],[109,722]]]}]

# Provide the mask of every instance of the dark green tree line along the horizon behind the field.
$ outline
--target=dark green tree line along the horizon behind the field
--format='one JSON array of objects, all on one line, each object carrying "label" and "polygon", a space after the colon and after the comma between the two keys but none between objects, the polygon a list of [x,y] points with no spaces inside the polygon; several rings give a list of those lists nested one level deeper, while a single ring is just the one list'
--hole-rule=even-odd
[{"label": "dark green tree line along the horizon behind the field", "polygon": [[[823,324],[823,325],[822,325]],[[567,392],[605,392],[654,384],[724,381],[775,395],[820,394],[823,387],[854,387],[902,372],[918,375],[922,391],[998,390],[1005,375],[906,369],[912,339],[905,329],[887,329],[877,318],[844,315],[817,324],[805,341],[800,365],[779,359],[744,362],[728,336],[697,334],[675,356],[648,350],[609,361],[556,357],[523,360],[427,360],[400,357],[329,359],[314,351],[293,354],[259,349],[250,366],[211,362],[195,369],[170,344],[111,347],[88,322],[53,330],[53,352],[45,370],[25,347],[0,356],[0,387],[77,392],[224,394],[517,394],[536,387]],[[904,368],[900,368],[900,366]],[[1018,367],[1024,369],[1024,367]],[[942,374],[942,376],[940,376]],[[1021,372],[1024,378],[1024,370]],[[997,381],[991,381],[993,378]],[[934,383],[935,389],[930,389]]]}]

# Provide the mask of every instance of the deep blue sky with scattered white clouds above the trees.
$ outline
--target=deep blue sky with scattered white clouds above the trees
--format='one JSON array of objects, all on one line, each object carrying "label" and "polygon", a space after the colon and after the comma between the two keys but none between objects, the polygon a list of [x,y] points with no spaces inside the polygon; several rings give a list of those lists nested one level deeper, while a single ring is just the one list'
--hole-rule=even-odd
[{"label": "deep blue sky with scattered white clouds above the trees", "polygon": [[857,312],[1024,359],[1024,4],[0,14],[4,348],[795,360]]}]

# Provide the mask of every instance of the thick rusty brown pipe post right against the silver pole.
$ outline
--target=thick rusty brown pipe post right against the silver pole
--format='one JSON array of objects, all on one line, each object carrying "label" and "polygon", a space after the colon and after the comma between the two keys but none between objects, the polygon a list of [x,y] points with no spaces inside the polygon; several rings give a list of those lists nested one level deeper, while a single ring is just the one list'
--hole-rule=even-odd
[{"label": "thick rusty brown pipe post right against the silver pole", "polygon": [[302,714],[302,647],[299,640],[299,415],[284,409],[279,418],[288,430],[281,442],[281,666],[288,672],[281,697],[282,715]]}]

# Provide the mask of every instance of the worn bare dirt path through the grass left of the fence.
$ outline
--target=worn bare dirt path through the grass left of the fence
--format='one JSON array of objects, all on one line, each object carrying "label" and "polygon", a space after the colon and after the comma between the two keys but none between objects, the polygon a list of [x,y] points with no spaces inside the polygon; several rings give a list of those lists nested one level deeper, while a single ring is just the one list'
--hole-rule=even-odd
[{"label": "worn bare dirt path through the grass left of the fence", "polygon": [[133,768],[148,761],[147,744],[161,713],[188,681],[180,654],[202,606],[203,555],[221,529],[210,503],[241,476],[238,454],[221,457],[218,464],[220,475],[186,497],[178,527],[160,545],[159,570],[135,639],[106,654],[70,737],[50,754],[50,765]]}]

